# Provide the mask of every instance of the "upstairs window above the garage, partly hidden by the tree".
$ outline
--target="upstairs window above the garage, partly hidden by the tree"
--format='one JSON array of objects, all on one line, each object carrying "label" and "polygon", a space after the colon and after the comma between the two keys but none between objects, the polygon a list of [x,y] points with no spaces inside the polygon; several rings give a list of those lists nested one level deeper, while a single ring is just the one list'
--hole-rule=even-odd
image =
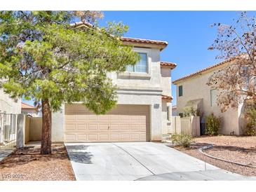
[{"label": "upstairs window above the garage, partly hidden by the tree", "polygon": [[138,53],[140,55],[140,61],[135,65],[128,65],[126,71],[135,73],[147,73],[147,53]]}]

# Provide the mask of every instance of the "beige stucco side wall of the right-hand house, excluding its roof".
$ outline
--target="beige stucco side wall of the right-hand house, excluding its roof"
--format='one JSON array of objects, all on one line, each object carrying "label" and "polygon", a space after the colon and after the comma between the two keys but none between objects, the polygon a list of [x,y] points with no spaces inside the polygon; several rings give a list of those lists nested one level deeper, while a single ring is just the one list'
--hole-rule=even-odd
[{"label": "beige stucco side wall of the right-hand house, excluding its roof", "polygon": [[[219,69],[220,68],[217,68],[215,70]],[[212,70],[206,74],[199,74],[177,83],[177,115],[184,112],[184,107],[189,100],[203,99],[201,107],[201,113],[203,113],[203,116],[207,116],[211,113],[216,116],[220,116],[222,118],[222,130],[220,133],[229,135],[230,132],[234,131],[236,135],[239,135],[241,134],[241,131],[238,125],[238,110],[228,109],[227,112],[222,113],[217,105],[213,107],[210,106],[210,86],[206,85],[206,83],[214,71]],[[182,85],[183,87],[183,95],[181,97],[178,95],[179,85]]]}]

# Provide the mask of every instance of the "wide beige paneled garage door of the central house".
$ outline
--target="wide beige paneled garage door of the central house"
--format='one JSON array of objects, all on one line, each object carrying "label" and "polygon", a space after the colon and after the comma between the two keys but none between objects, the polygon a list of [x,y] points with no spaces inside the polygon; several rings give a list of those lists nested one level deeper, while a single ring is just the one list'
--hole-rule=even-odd
[{"label": "wide beige paneled garage door of the central house", "polygon": [[65,105],[65,142],[145,142],[149,140],[149,106],[117,105],[95,115],[81,104]]}]

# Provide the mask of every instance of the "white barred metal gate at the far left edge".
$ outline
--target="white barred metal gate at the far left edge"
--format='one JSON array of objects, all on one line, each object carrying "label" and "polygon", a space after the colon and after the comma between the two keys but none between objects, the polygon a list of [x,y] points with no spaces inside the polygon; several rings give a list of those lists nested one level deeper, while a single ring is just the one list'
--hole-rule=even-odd
[{"label": "white barred metal gate at the far left edge", "polygon": [[0,113],[0,149],[16,146],[17,114]]}]

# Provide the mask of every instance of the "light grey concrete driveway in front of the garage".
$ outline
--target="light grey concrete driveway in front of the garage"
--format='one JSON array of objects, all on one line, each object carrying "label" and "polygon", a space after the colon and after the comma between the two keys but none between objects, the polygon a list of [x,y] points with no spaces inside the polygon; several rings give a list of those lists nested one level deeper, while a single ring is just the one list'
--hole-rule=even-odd
[{"label": "light grey concrete driveway in front of the garage", "polygon": [[248,180],[153,142],[65,144],[77,180]]}]

